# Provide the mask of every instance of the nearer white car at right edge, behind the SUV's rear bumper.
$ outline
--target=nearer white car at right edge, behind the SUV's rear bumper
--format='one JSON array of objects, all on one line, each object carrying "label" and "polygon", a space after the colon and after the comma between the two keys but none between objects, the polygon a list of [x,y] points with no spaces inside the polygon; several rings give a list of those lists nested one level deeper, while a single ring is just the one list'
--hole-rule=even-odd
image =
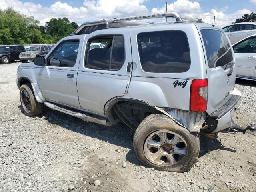
[{"label": "nearer white car at right edge, behind the SUV's rear bumper", "polygon": [[236,78],[256,80],[256,34],[233,45],[236,58]]}]

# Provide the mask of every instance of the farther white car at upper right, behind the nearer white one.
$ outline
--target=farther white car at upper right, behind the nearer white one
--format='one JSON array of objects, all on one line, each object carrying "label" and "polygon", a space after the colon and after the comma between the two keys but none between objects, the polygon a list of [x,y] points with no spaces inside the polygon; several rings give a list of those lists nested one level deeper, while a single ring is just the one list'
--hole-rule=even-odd
[{"label": "farther white car at upper right, behind the nearer white one", "polygon": [[252,35],[256,34],[256,23],[244,22],[234,23],[223,28],[228,35],[228,38],[232,44]]}]

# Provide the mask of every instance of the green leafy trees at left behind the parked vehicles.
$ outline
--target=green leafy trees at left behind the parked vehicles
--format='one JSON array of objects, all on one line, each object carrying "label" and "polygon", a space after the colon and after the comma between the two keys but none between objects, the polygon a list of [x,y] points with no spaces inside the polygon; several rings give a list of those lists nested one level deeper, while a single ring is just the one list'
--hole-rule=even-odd
[{"label": "green leafy trees at left behind the parked vehicles", "polygon": [[34,17],[27,17],[7,8],[0,10],[0,44],[54,44],[71,34],[78,24],[68,18],[52,18],[39,26]]}]

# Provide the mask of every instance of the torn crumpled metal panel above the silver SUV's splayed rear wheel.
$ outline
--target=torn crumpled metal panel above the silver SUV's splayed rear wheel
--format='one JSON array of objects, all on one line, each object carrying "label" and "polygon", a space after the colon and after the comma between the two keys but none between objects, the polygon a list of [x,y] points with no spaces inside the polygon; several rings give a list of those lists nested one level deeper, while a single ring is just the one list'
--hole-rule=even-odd
[{"label": "torn crumpled metal panel above the silver SUV's splayed rear wheel", "polygon": [[174,108],[155,108],[169,116],[178,125],[187,128],[190,132],[200,132],[200,129],[206,119],[205,113],[184,111]]}]

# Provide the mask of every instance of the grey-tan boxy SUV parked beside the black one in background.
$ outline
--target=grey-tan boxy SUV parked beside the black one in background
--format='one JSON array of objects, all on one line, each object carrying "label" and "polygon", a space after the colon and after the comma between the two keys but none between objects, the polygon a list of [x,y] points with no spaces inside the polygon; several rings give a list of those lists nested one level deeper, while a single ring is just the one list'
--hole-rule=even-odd
[{"label": "grey-tan boxy SUV parked beside the black one in background", "polygon": [[51,50],[50,46],[31,46],[28,51],[20,53],[20,61],[26,63],[27,61],[34,60],[38,56],[46,56]]}]

